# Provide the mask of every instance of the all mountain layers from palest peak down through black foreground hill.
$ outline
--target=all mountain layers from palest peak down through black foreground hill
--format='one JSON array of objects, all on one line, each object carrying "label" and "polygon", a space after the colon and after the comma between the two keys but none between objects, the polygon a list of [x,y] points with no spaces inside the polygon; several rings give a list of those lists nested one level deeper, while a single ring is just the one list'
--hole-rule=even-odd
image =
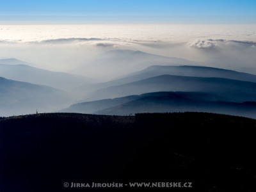
[{"label": "all mountain layers from palest peak down through black foreground hill", "polygon": [[[186,191],[255,191],[256,76],[119,50],[76,72],[122,78],[84,85],[20,62],[0,60],[0,191],[176,181],[192,182]],[[77,93],[86,102],[74,104]],[[166,113],[184,111],[193,113]]]}]

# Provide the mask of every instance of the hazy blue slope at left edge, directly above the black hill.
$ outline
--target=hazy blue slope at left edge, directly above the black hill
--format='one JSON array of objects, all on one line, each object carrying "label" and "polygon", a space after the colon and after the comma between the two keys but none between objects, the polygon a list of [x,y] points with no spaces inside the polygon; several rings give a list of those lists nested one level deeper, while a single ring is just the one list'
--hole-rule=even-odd
[{"label": "hazy blue slope at left edge, directly above the black hill", "polygon": [[72,102],[64,91],[0,77],[0,116],[53,111]]}]

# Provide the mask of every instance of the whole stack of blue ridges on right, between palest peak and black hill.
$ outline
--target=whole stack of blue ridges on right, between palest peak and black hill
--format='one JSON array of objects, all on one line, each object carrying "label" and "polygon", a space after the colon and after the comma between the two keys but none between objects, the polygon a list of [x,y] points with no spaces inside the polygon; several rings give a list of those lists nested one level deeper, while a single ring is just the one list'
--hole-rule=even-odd
[{"label": "whole stack of blue ridges on right, between palest peak and black hill", "polygon": [[74,91],[84,95],[86,102],[62,112],[129,115],[203,111],[256,118],[256,76],[222,68],[154,65]]}]

